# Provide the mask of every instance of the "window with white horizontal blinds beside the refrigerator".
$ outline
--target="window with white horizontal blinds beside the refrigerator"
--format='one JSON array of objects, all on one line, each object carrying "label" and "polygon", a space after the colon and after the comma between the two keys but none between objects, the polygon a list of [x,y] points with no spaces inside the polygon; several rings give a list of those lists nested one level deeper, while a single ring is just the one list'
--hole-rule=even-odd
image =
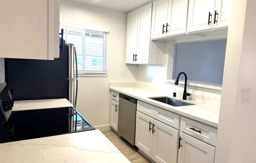
[{"label": "window with white horizontal blinds beside the refrigerator", "polygon": [[107,32],[61,24],[64,40],[73,43],[77,51],[79,74],[106,74]]}]

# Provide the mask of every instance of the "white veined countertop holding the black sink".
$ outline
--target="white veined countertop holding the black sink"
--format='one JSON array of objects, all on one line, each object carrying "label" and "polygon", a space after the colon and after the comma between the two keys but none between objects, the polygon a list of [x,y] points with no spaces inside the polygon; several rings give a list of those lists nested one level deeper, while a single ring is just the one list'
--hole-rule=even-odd
[{"label": "white veined countertop holding the black sink", "polygon": [[[125,94],[127,96],[131,96],[133,98],[136,98],[140,101],[144,101],[146,103],[155,105],[157,107],[169,110],[171,112],[177,113],[181,116],[185,116],[187,118],[194,119],[196,121],[205,123],[207,125],[218,127],[218,121],[219,121],[219,114],[216,112],[207,109],[206,103],[196,103],[194,101],[190,100],[184,100],[188,103],[194,103],[196,105],[189,105],[189,106],[181,106],[181,107],[174,107],[165,103],[161,103],[159,101],[152,100],[148,97],[161,97],[161,96],[168,96],[164,93],[154,91],[151,89],[146,88],[140,88],[140,87],[134,87],[134,86],[127,86],[127,87],[110,87],[110,90],[119,92],[122,94]],[[182,98],[176,98],[177,100],[182,100]],[[183,101],[183,100],[182,100]],[[214,106],[215,104],[212,103],[212,107],[219,107]]]}]

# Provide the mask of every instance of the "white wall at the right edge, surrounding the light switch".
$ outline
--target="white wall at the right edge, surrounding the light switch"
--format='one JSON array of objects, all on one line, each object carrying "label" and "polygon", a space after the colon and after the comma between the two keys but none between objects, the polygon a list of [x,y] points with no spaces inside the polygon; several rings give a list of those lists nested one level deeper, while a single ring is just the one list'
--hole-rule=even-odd
[{"label": "white wall at the right edge, surrounding the light switch", "polygon": [[[233,0],[224,67],[216,163],[255,163],[255,0]],[[241,103],[251,88],[250,103]]]}]

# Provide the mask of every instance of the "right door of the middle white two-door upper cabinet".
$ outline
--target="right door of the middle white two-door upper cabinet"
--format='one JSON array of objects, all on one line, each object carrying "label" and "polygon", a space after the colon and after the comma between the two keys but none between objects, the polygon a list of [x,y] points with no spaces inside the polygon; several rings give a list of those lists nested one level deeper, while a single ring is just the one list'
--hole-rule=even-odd
[{"label": "right door of the middle white two-door upper cabinet", "polygon": [[187,32],[188,0],[169,0],[167,36]]}]

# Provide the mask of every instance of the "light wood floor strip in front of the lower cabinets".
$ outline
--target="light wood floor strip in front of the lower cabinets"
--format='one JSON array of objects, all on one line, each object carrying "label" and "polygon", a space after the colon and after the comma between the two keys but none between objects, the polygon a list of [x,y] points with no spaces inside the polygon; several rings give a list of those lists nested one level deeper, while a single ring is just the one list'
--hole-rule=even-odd
[{"label": "light wood floor strip in front of the lower cabinets", "polygon": [[126,140],[117,135],[112,130],[102,132],[112,143],[119,149],[123,155],[132,163],[151,163],[148,159],[142,156],[138,150],[130,145]]}]

